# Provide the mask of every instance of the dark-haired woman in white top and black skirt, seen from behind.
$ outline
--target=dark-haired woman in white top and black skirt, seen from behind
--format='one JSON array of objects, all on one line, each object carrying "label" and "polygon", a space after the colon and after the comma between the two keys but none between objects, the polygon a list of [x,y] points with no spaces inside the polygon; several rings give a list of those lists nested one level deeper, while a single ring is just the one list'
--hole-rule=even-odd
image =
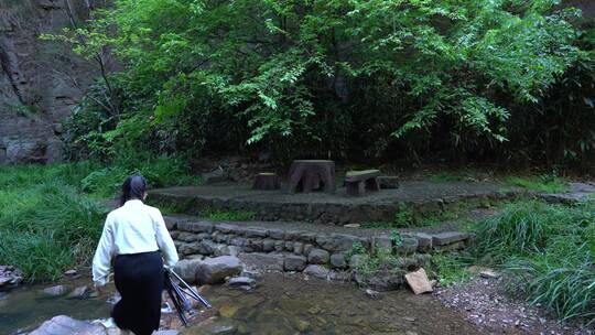
[{"label": "dark-haired woman in white top and black skirt, seen from behind", "polygon": [[120,207],[109,213],[93,260],[98,290],[113,280],[121,300],[113,306],[116,325],[136,335],[159,328],[164,270],[178,260],[173,240],[158,208],[144,205],[147,181],[134,175],[122,185]]}]

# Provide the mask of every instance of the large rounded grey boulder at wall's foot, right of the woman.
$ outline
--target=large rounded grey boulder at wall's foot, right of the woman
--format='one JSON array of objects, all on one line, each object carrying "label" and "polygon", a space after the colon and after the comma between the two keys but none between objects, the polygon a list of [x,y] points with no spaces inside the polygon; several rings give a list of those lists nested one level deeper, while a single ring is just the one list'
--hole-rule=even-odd
[{"label": "large rounded grey boulder at wall's foot, right of the woman", "polygon": [[196,280],[201,284],[223,283],[226,277],[240,274],[241,269],[241,262],[237,257],[207,258],[198,264]]}]

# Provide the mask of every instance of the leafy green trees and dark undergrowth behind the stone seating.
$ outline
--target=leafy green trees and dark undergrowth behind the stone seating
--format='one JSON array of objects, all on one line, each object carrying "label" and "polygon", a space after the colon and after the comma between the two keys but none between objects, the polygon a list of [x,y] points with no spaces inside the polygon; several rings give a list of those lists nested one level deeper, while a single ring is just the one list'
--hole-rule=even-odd
[{"label": "leafy green trees and dark undergrowth behind the stone seating", "polygon": [[125,66],[121,114],[99,80],[73,152],[583,160],[595,39],[559,2],[117,0],[54,36]]}]

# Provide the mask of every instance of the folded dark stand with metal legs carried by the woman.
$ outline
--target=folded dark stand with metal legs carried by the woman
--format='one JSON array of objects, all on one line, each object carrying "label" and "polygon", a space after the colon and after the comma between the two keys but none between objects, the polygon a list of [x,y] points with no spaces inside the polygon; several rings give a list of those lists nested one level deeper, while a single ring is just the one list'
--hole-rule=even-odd
[{"label": "folded dark stand with metal legs carried by the woman", "polygon": [[[177,282],[172,280],[172,278]],[[188,325],[186,313],[190,313],[192,310],[188,296],[199,301],[207,309],[212,307],[206,299],[171,269],[165,270],[165,290],[167,290],[167,293],[177,310],[177,316],[180,316],[180,320],[185,326]]]}]

